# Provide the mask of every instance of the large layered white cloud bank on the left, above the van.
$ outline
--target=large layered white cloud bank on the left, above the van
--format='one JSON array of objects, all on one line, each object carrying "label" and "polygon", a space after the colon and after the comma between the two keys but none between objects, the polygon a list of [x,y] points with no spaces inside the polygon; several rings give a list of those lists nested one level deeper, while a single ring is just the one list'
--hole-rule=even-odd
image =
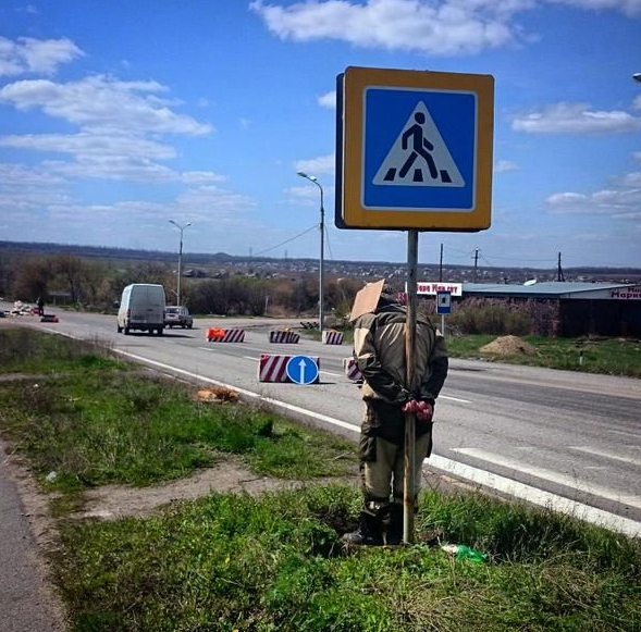
[{"label": "large layered white cloud bank on the left, above the van", "polygon": [[0,103],[19,110],[40,109],[76,124],[76,134],[25,134],[0,137],[0,147],[70,154],[71,161],[48,160],[51,173],[65,179],[83,177],[132,182],[221,182],[210,172],[180,173],[159,161],[176,150],[161,135],[200,136],[211,126],[172,110],[168,89],[157,82],[121,82],[96,75],[74,83],[20,80],[0,89]]}]

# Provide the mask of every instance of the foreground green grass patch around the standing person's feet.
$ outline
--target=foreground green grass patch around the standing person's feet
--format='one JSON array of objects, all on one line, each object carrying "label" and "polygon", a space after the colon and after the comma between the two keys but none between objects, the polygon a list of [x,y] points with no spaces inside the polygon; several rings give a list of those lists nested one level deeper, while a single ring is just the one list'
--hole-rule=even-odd
[{"label": "foreground green grass patch around the standing person's feet", "polygon": [[419,529],[467,536],[491,561],[421,543],[345,555],[337,526],[358,495],[337,485],[67,524],[58,570],[72,631],[640,629],[638,544],[478,496],[421,500]]}]

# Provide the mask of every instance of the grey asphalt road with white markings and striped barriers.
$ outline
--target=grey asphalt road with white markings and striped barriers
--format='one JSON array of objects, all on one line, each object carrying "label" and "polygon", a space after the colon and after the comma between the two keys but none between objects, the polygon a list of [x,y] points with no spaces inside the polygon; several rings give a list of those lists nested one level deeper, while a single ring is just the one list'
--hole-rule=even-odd
[{"label": "grey asphalt road with white markings and striped barriers", "polygon": [[[357,436],[362,405],[343,369],[349,346],[269,343],[271,329],[298,321],[206,319],[194,330],[125,336],[116,333],[115,317],[49,311],[60,322],[21,321],[103,340],[168,373],[226,384]],[[208,343],[205,333],[213,325],[243,326],[245,342]],[[259,382],[260,354],[318,357],[321,382]],[[641,534],[641,380],[453,359],[434,433],[434,455],[426,463],[432,471]]]}]

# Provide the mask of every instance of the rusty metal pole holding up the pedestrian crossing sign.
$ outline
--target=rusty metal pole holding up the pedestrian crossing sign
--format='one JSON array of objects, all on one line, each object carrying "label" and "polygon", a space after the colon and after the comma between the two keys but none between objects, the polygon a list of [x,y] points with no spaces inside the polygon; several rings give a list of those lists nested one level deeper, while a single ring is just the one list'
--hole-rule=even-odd
[{"label": "rusty metal pole holding up the pedestrian crossing sign", "polygon": [[[416,277],[418,268],[418,231],[407,233],[407,319],[405,326],[405,381],[406,387],[414,393],[416,385]],[[403,485],[403,542],[414,542],[414,491],[415,491],[415,444],[416,417],[414,412],[405,413],[405,462]]]}]

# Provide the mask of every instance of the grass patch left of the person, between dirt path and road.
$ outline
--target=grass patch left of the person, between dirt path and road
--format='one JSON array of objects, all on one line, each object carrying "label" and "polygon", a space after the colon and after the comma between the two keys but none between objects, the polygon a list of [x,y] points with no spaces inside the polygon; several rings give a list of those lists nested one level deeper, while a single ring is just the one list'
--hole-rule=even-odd
[{"label": "grass patch left of the person, between dirt path and road", "polygon": [[[47,346],[52,337],[29,333],[34,349],[33,340]],[[0,332],[0,347],[3,340]],[[149,485],[186,476],[221,454],[238,456],[261,475],[308,480],[355,471],[345,441],[257,408],[197,402],[196,388],[123,371],[116,360],[94,359],[94,349],[74,355],[73,340],[58,344],[44,361],[23,347],[17,365],[38,375],[0,382],[0,430],[40,478],[57,472],[52,490]]]}]

